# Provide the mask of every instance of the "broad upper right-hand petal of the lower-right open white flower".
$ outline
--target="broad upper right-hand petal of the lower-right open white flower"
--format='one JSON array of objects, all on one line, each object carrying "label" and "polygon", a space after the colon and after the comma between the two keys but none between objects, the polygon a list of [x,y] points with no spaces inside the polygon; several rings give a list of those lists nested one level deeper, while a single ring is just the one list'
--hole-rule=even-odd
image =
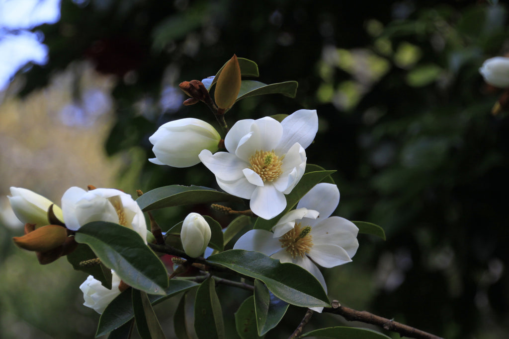
[{"label": "broad upper right-hand petal of the lower-right open white flower", "polygon": [[322,220],[313,227],[311,232],[314,249],[323,244],[332,243],[343,248],[352,258],[359,248],[357,240],[359,229],[345,218],[330,217]]}]

